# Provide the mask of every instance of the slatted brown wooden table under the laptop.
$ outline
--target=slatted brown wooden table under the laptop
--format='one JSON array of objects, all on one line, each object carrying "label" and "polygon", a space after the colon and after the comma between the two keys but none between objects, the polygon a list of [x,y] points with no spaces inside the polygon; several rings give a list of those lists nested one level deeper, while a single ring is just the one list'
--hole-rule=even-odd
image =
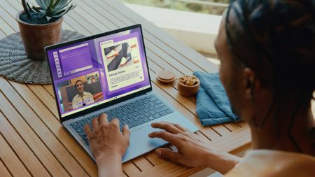
[{"label": "slatted brown wooden table under the laptop", "polygon": [[[236,153],[249,145],[244,122],[202,127],[195,98],[182,97],[176,84],[161,85],[155,79],[162,69],[179,77],[193,71],[215,72],[217,66],[117,0],[74,3],[78,6],[64,17],[64,29],[91,35],[143,24],[153,90],[194,122],[200,128],[198,136],[209,146]],[[0,38],[19,31],[14,20],[19,10],[20,0],[1,0]],[[0,77],[0,176],[97,176],[94,162],[60,125],[54,99],[52,85],[26,85]],[[154,153],[123,164],[125,176],[189,176],[200,169],[167,162]]]}]

